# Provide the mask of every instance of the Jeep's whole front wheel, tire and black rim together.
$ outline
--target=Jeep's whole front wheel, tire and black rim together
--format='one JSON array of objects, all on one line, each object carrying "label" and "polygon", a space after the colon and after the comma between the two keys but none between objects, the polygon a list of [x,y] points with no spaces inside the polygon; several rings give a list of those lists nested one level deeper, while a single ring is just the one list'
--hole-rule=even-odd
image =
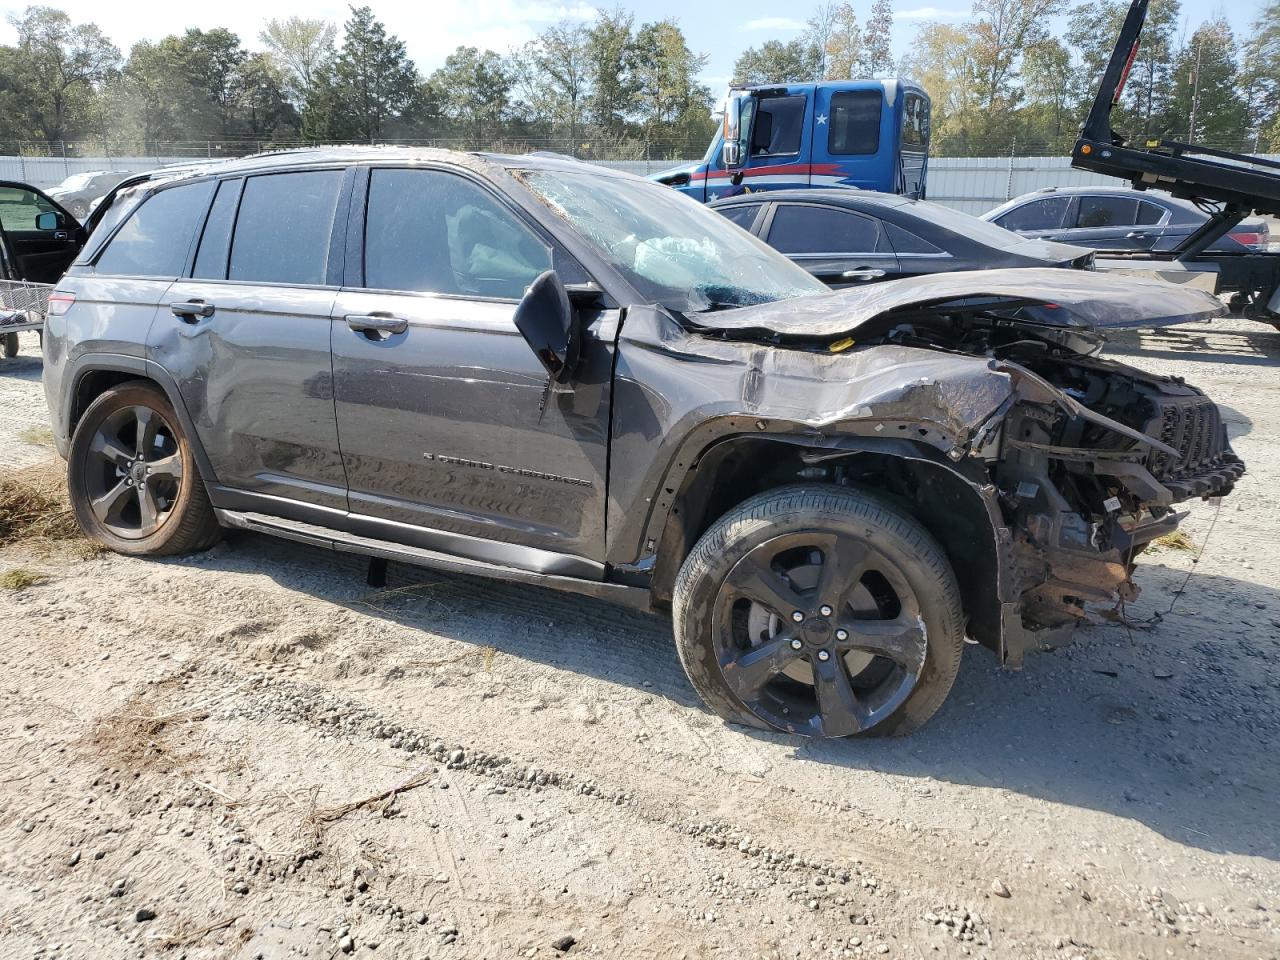
[{"label": "Jeep's whole front wheel, tire and black rim together", "polygon": [[911,732],[942,705],[964,649],[938,543],[836,486],[771,490],[718,520],[676,577],[673,620],[708,707],[805,736]]}]

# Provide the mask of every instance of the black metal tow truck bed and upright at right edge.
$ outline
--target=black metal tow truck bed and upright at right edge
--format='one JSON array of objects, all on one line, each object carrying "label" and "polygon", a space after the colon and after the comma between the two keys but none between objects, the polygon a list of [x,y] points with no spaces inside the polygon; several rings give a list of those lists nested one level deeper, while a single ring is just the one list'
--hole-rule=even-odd
[{"label": "black metal tow truck bed and upright at right edge", "polygon": [[[1208,214],[1199,229],[1165,252],[1134,255],[1140,261],[1175,261],[1189,270],[1217,271],[1234,312],[1280,329],[1280,253],[1208,253],[1210,246],[1245,216],[1280,216],[1280,163],[1175,140],[1130,138],[1111,127],[1142,42],[1151,0],[1132,0],[1097,96],[1071,150],[1071,166],[1128,180],[1135,189],[1160,189]],[[1125,256],[1107,253],[1108,257]]]}]

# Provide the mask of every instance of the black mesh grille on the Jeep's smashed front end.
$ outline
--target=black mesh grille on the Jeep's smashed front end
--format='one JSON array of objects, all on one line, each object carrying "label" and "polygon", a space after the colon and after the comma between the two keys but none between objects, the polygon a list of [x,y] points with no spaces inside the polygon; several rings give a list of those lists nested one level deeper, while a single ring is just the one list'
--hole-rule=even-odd
[{"label": "black mesh grille on the Jeep's smashed front end", "polygon": [[1224,492],[1240,477],[1244,463],[1228,447],[1222,412],[1213,401],[1203,394],[1161,394],[1155,403],[1158,416],[1147,433],[1180,456],[1153,451],[1147,468],[1176,499]]}]

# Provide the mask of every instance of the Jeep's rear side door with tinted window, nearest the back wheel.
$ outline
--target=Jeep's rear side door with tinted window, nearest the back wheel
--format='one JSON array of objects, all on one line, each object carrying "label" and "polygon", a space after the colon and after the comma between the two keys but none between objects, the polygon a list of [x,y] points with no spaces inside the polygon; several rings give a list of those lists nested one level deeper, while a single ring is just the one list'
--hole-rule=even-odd
[{"label": "Jeep's rear side door with tinted window, nearest the back wheel", "polygon": [[178,381],[219,506],[308,521],[346,512],[329,316],[352,175],[221,180],[191,276],[157,315],[151,356]]}]

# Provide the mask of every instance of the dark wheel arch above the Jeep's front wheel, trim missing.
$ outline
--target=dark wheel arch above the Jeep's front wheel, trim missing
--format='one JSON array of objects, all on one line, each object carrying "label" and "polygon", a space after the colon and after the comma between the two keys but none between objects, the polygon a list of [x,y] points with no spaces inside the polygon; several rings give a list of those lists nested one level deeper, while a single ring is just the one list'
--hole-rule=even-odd
[{"label": "dark wheel arch above the Jeep's front wheel, trim missing", "polygon": [[668,476],[675,495],[660,518],[652,591],[671,603],[676,575],[698,539],[737,504],[795,483],[877,493],[904,508],[942,545],[960,584],[969,632],[1001,658],[1006,540],[989,483],[965,476],[932,447],[899,438],[736,435]]}]

